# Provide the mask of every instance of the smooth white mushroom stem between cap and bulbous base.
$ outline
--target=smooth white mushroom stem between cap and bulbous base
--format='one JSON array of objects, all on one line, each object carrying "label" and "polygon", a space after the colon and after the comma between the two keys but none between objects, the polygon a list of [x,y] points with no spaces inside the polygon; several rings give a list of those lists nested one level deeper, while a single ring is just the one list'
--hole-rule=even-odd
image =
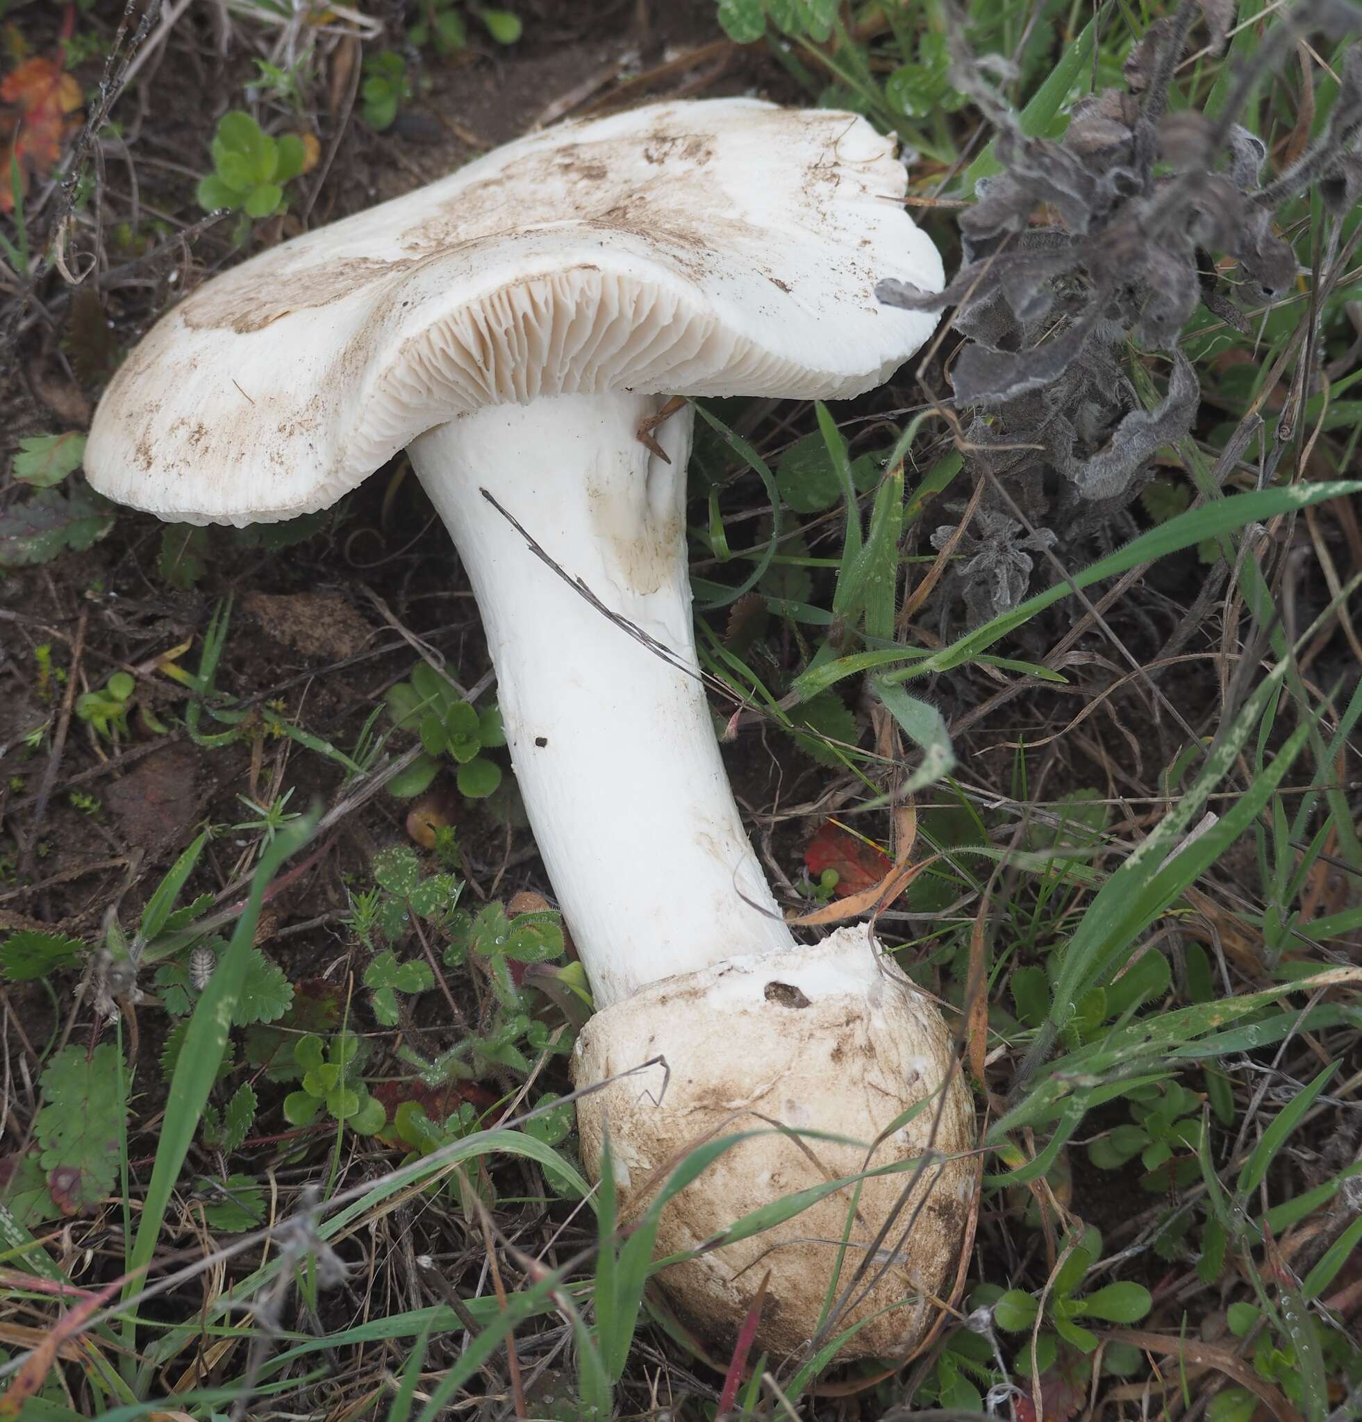
[{"label": "smooth white mushroom stem between cap and bulbous base", "polygon": [[699,681],[691,410],[655,431],[670,465],[638,439],[661,404],[617,391],[489,405],[408,449],[478,597],[520,793],[601,1008],[793,943]]}]

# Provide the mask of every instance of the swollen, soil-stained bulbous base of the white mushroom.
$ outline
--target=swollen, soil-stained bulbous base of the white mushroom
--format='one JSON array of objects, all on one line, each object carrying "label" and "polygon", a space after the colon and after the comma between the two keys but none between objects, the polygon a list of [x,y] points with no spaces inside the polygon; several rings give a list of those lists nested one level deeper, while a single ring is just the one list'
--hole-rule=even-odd
[{"label": "swollen, soil-stained bulbous base of the white mushroom", "polygon": [[[837,1280],[839,1291],[852,1281],[897,1209],[835,1332],[889,1308],[842,1355],[891,1357],[911,1348],[934,1315],[931,1298],[950,1288],[975,1192],[974,1163],[962,1155],[972,1145],[970,1094],[954,1066],[945,1022],[928,998],[877,954],[864,929],[840,929],[813,947],[731,958],[641,988],[587,1022],[573,1076],[581,1088],[655,1057],[670,1068],[665,1091],[663,1069],[653,1066],[620,1076],[577,1105],[581,1153],[593,1177],[608,1123],[626,1220],[637,1219],[695,1146],[763,1132],[732,1146],[670,1202],[658,1256],[698,1249],[742,1216],[798,1190],[934,1150],[901,1207],[911,1167],[864,1180]],[[869,1149],[917,1105],[913,1119]],[[795,1138],[772,1126],[859,1143]],[[758,1345],[798,1352],[813,1337],[837,1273],[852,1196],[853,1187],[844,1186],[773,1229],[672,1266],[660,1281],[688,1322],[725,1347],[769,1270]],[[879,1283],[867,1294],[866,1280],[876,1274]]]}]

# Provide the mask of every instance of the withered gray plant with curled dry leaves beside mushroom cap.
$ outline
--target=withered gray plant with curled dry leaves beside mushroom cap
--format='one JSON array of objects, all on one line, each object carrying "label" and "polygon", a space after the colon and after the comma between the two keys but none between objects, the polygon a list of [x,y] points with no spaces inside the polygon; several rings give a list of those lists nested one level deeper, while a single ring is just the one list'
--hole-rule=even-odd
[{"label": "withered gray plant with curled dry leaves beside mushroom cap", "polygon": [[[1002,172],[980,181],[978,201],[960,215],[964,262],[944,293],[886,280],[876,294],[908,310],[954,306],[953,328],[967,338],[950,378],[965,469],[987,488],[961,535],[967,556],[945,589],[964,600],[971,623],[1025,596],[1028,550],[1053,542],[1059,552],[1076,550],[1093,536],[1110,542],[1135,532],[1125,510],[1154,452],[1183,438],[1197,415],[1200,385],[1179,350],[1197,304],[1248,334],[1243,307],[1272,301],[1295,283],[1295,253],[1274,222],[1282,203],[1318,186],[1339,219],[1358,201],[1362,46],[1346,51],[1318,139],[1270,182],[1262,141],[1235,117],[1298,38],[1356,34],[1362,7],[1304,0],[1234,75],[1218,114],[1170,111],[1173,73],[1197,16],[1218,53],[1233,13],[1233,0],[1181,0],[1130,54],[1126,88],[1082,98],[1058,141],[1022,134],[987,78],[1005,78],[1005,61],[972,60],[962,26],[953,26],[953,82],[995,129]],[[1041,209],[1045,220],[1036,222]],[[1329,257],[1339,230],[1335,220]],[[1228,276],[1217,257],[1234,259]],[[1125,365],[1149,353],[1169,356],[1167,364],[1152,363],[1167,370],[1154,408]],[[1058,540],[1051,529],[1062,530]],[[953,530],[937,529],[933,543],[943,546]]]}]

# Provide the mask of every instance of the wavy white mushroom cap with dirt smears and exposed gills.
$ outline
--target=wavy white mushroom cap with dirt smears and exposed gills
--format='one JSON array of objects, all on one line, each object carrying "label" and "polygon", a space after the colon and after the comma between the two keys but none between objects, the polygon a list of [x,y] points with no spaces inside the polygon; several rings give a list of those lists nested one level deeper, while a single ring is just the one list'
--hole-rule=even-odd
[{"label": "wavy white mushroom cap with dirt smears and exposed gills", "polygon": [[205,283],[95,412],[91,483],[186,522],[326,508],[417,435],[489,404],[869,390],[943,286],[907,175],[863,118],[654,104],[508,144]]}]

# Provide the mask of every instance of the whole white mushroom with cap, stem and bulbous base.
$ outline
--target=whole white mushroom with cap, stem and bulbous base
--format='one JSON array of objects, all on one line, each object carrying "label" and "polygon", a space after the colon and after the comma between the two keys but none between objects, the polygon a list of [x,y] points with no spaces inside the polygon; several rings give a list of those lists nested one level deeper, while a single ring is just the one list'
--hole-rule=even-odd
[{"label": "whole white mushroom with cap, stem and bulbous base", "polygon": [[[206,283],[129,356],[85,452],[109,498],[242,525],[326,508],[408,449],[478,594],[516,776],[603,1010],[576,1079],[660,1052],[671,1069],[661,1105],[650,1075],[583,1099],[589,1166],[607,1116],[626,1207],[717,1129],[862,1142],[744,1140],[668,1207],[664,1247],[685,1249],[863,1169],[926,1102],[873,1156],[908,1160],[933,1139],[948,1159],[907,1203],[907,1246],[889,1234],[867,1276],[880,1283],[842,1320],[910,1300],[859,1352],[910,1345],[954,1263],[968,1096],[940,1015],[864,931],[806,948],[781,919],[698,677],[691,411],[657,427],[670,462],[638,431],[671,394],[881,383],[934,319],[881,306],[876,282],[943,284],[904,186],[890,141],[826,109],[674,102],[537,134]],[[866,1182],[843,1284],[910,1179]],[[850,1197],[664,1283],[722,1332],[769,1268],[762,1341],[798,1348]]]}]

